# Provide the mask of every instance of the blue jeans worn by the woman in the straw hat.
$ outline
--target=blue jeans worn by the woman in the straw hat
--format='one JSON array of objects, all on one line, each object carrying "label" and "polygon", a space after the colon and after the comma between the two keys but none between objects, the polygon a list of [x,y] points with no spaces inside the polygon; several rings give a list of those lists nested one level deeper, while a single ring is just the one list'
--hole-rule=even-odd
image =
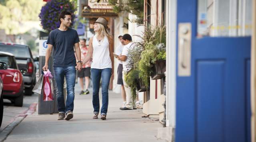
[{"label": "blue jeans worn by the woman in the straw hat", "polygon": [[106,69],[91,69],[91,77],[93,84],[92,91],[92,105],[94,108],[94,114],[98,114],[100,111],[100,78],[102,79],[102,107],[101,115],[106,115],[108,112],[108,85],[111,77],[111,68]]}]

